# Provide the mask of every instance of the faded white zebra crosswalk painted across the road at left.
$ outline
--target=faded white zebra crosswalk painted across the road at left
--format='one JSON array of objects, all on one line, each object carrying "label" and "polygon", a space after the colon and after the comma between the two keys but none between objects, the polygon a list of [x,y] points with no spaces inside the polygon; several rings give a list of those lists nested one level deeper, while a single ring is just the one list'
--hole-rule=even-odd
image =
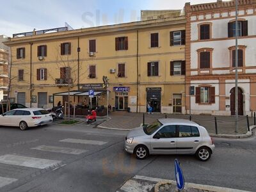
[{"label": "faded white zebra crosswalk painted across the road at left", "polygon": [[[73,143],[74,146],[76,146],[75,148],[70,148],[70,147],[66,147],[63,145],[67,145],[67,143],[70,143],[70,145]],[[35,153],[35,157],[33,156],[28,156],[28,155],[22,155],[22,154],[12,154],[12,153],[8,153],[8,154],[3,154],[2,156],[0,156],[0,168],[1,166],[8,166],[8,168],[12,169],[17,169],[20,168],[20,170],[22,170],[22,172],[24,172],[24,174],[31,174],[31,169],[35,169],[34,172],[36,172],[36,170],[43,170],[43,169],[47,169],[49,167],[53,168],[58,168],[61,166],[62,161],[65,161],[66,159],[64,159],[64,156],[58,156],[58,159],[51,159],[55,156],[52,156],[51,154],[65,154],[68,158],[70,158],[70,156],[78,156],[80,154],[84,154],[86,152],[88,152],[89,150],[92,150],[93,146],[95,147],[99,147],[102,145],[106,145],[108,142],[106,141],[100,141],[100,140],[82,140],[82,139],[75,139],[75,138],[63,138],[62,140],[58,140],[54,142],[54,145],[38,145],[35,147],[31,147],[29,148],[29,151],[31,150],[32,153],[33,151],[42,151],[42,152],[46,152],[47,154],[49,154],[49,156],[47,155],[47,157],[50,157],[50,159],[45,159],[45,158],[40,158],[38,157],[38,153]],[[42,143],[41,143],[42,144]],[[61,159],[63,158],[63,159]],[[5,165],[4,165],[5,164]],[[30,169],[29,173],[28,170]],[[54,169],[53,169],[54,170]],[[4,175],[5,174],[5,175]],[[9,174],[9,175],[8,175]],[[16,177],[17,178],[16,178]],[[17,180],[21,179],[19,178],[19,176],[10,173],[1,173],[0,172],[0,191],[1,188],[4,187],[9,187],[8,185],[12,184],[13,182],[16,182]]]}]

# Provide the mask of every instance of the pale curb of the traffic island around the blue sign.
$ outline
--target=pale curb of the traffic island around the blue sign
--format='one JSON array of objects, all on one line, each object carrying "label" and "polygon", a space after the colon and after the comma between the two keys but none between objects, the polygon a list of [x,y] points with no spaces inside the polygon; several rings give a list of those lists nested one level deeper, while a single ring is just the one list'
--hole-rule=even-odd
[{"label": "pale curb of the traffic island around the blue sign", "polygon": [[[160,182],[157,182],[157,184],[154,186],[154,191],[159,192],[159,186],[162,184],[173,184],[176,186],[176,182],[174,180],[161,180]],[[222,188],[217,186],[207,186],[202,184],[194,184],[185,182],[186,188],[194,188],[194,189],[200,189],[204,191],[213,191],[213,192],[249,192],[249,191],[243,191],[239,189],[231,189],[231,188]]]}]

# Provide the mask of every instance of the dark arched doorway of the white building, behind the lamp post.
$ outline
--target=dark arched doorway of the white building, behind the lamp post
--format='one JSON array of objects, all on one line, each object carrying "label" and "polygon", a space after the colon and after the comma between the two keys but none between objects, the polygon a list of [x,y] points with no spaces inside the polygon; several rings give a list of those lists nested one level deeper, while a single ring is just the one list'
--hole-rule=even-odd
[{"label": "dark arched doorway of the white building, behind the lamp post", "polygon": [[[236,88],[232,88],[230,90],[230,111],[231,115],[236,115],[236,109],[235,109],[235,92]],[[243,90],[241,88],[238,88],[237,92],[237,104],[238,104],[238,115],[244,114],[244,108],[243,108]]]}]

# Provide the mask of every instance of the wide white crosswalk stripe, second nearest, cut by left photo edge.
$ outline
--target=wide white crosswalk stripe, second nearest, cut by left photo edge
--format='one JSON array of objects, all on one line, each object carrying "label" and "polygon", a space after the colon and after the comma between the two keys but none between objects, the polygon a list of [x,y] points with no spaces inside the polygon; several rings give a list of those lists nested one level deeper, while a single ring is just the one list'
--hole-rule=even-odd
[{"label": "wide white crosswalk stripe, second nearest, cut by left photo edge", "polygon": [[61,161],[7,154],[0,156],[0,163],[44,169],[54,164],[61,163]]}]

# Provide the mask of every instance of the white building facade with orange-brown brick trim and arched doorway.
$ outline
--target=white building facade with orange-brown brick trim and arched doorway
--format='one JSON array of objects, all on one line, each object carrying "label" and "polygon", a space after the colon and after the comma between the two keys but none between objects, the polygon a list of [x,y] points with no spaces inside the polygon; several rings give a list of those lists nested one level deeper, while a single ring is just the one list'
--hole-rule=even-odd
[{"label": "white building facade with orange-brown brick trim and arched doorway", "polygon": [[[256,1],[238,2],[238,113],[252,115],[256,111]],[[187,113],[236,113],[235,9],[235,1],[185,6]]]}]

